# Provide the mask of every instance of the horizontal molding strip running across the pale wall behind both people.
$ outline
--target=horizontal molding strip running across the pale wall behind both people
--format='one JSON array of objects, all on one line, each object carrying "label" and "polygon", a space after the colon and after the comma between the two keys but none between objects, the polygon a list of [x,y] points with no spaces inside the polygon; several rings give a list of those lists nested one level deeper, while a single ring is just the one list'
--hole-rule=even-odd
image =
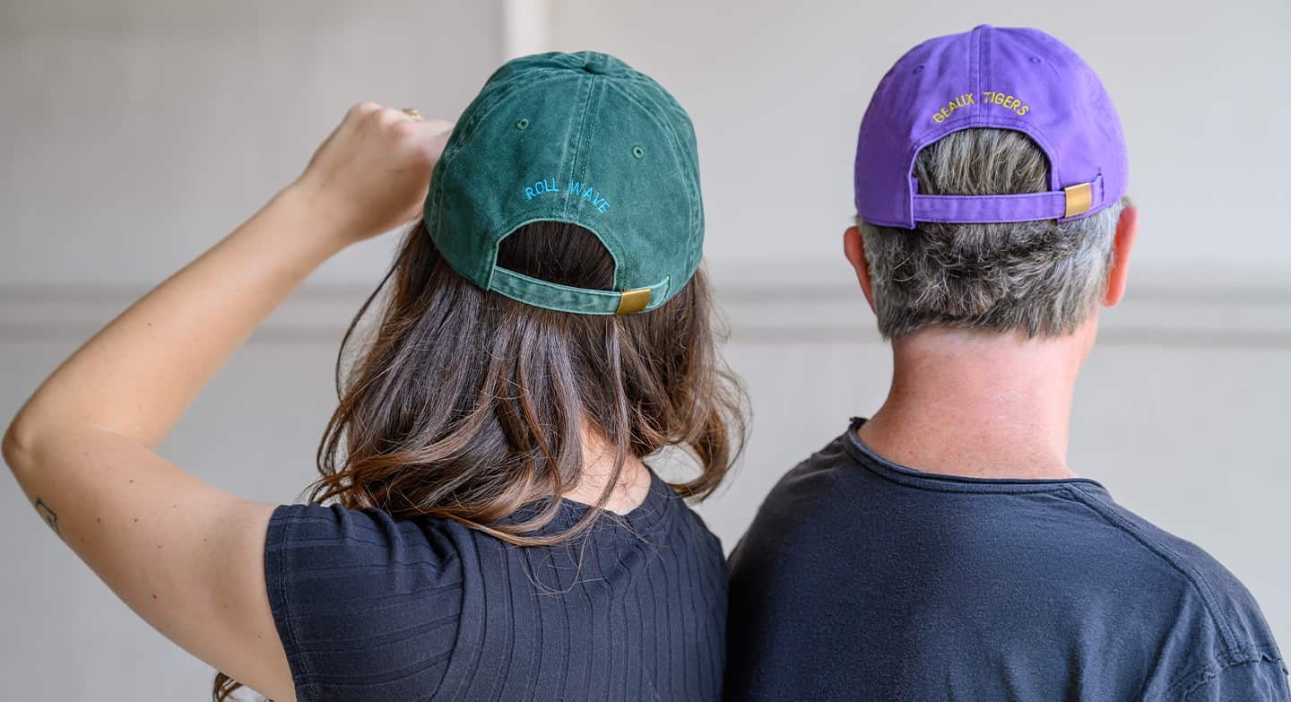
[{"label": "horizontal molding strip running across the pale wall behind both people", "polygon": [[[815,266],[758,263],[710,270],[729,342],[882,342],[849,271],[838,268],[831,265],[822,274]],[[1136,280],[1124,302],[1104,314],[1101,345],[1291,350],[1291,280],[1251,275],[1242,284],[1194,284],[1206,279],[1150,271]],[[84,341],[146,290],[0,285],[0,343]],[[337,345],[369,292],[354,284],[306,284],[252,343]]]}]

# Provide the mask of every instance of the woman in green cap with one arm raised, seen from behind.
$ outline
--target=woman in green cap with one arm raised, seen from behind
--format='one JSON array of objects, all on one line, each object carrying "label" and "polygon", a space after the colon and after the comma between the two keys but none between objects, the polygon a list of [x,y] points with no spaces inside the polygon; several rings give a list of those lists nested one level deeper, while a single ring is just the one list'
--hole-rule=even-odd
[{"label": "woman in green cap with one arm raised, seen from behind", "polygon": [[[447,126],[354,107],[50,376],[5,459],[127,604],[227,674],[216,698],[715,699],[722,551],[680,497],[718,485],[742,425],[689,119],[585,53],[507,63]],[[355,317],[385,292],[312,505],[152,452],[311,270],[418,216]],[[664,449],[698,475],[665,484],[643,462]]]}]

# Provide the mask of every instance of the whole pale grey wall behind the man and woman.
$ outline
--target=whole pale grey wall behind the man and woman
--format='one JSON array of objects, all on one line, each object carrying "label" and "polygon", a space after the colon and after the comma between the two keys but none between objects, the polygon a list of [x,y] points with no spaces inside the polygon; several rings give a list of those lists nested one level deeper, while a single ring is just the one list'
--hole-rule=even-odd
[{"label": "whole pale grey wall behind the man and woman", "polygon": [[[507,41],[609,50],[696,121],[727,355],[755,413],[745,462],[704,507],[733,546],[775,479],[887,382],[838,256],[870,90],[927,35],[1029,23],[1109,84],[1144,221],[1128,299],[1081,381],[1072,462],[1219,556],[1291,647],[1291,237],[1276,212],[1291,157],[1278,126],[1291,53],[1276,32],[1291,6],[554,0],[545,31],[519,34],[505,6],[0,1],[0,418],[293,177],[349,103],[453,115]],[[294,499],[343,324],[389,252],[364,244],[311,279],[163,454],[248,497]],[[17,489],[0,489],[0,699],[203,696],[209,670],[117,603]]]}]

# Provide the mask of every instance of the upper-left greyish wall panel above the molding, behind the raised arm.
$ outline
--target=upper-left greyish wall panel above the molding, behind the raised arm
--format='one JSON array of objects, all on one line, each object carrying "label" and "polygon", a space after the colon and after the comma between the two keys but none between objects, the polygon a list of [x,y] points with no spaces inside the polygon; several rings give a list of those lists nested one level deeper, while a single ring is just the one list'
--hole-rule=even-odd
[{"label": "upper-left greyish wall panel above the molding, behind the raised arm", "polygon": [[[5,0],[8,285],[155,281],[303,168],[364,99],[456,115],[503,55],[500,3]],[[367,281],[389,243],[314,283]]]}]

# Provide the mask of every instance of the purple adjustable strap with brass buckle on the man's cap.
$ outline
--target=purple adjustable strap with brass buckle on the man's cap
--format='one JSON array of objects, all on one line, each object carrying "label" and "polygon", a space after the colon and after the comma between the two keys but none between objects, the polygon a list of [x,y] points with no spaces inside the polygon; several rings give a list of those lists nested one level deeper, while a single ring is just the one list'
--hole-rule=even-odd
[{"label": "purple adjustable strap with brass buckle on the man's cap", "polygon": [[[911,179],[913,181],[913,179]],[[917,183],[911,188],[918,191]],[[1068,221],[1103,204],[1103,176],[1061,191],[1025,195],[915,195],[915,222],[1030,222]]]}]

